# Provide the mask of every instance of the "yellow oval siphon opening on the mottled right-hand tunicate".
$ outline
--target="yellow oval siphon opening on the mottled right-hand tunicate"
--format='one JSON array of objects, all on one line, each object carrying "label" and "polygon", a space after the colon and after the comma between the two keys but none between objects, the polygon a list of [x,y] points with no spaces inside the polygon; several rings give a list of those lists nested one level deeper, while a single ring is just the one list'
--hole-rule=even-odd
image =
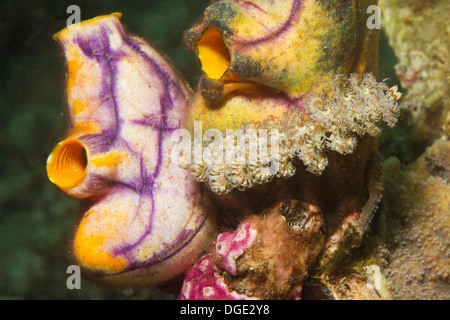
[{"label": "yellow oval siphon opening on the mottled right-hand tunicate", "polygon": [[220,79],[230,67],[230,51],[220,32],[214,28],[209,28],[202,34],[197,53],[203,72],[210,79]]}]

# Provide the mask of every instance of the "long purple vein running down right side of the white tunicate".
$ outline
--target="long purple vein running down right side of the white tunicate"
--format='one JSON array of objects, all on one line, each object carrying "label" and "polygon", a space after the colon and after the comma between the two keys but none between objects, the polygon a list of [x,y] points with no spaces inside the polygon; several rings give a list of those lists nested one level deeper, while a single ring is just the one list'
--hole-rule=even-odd
[{"label": "long purple vein running down right side of the white tunicate", "polygon": [[[170,95],[170,87],[175,86],[180,92],[182,92],[181,87],[173,80],[171,80],[171,77],[167,72],[165,72],[150,56],[148,56],[147,53],[141,50],[140,45],[136,42],[134,42],[132,39],[129,39],[126,37],[124,33],[122,33],[122,39],[123,41],[128,44],[128,46],[137,52],[145,61],[147,61],[149,64],[152,65],[153,70],[155,71],[156,76],[159,78],[159,80],[163,83],[164,91],[162,95],[160,96],[160,106],[161,106],[161,119],[163,122],[163,127],[167,127],[167,109],[171,109],[171,107],[174,106],[174,102],[172,101],[172,97]],[[159,128],[157,128],[159,129]],[[120,246],[116,250],[114,250],[115,255],[125,255],[128,256],[131,250],[133,250],[135,247],[137,247],[139,244],[141,244],[144,239],[152,233],[153,229],[153,215],[155,213],[155,207],[154,207],[154,198],[153,198],[153,186],[156,181],[156,179],[159,176],[161,165],[162,165],[162,131],[158,131],[158,159],[156,161],[156,166],[154,172],[146,178],[146,173],[144,172],[144,164],[141,162],[141,176],[143,178],[143,193],[141,194],[141,198],[139,200],[139,206],[138,209],[135,211],[135,215],[138,214],[138,211],[140,209],[140,204],[142,200],[142,196],[146,193],[145,191],[149,192],[149,196],[152,199],[152,210],[149,217],[148,227],[146,228],[145,232],[139,237],[137,241],[135,241],[132,244],[128,244],[125,246]],[[148,190],[147,190],[148,189]]]}]

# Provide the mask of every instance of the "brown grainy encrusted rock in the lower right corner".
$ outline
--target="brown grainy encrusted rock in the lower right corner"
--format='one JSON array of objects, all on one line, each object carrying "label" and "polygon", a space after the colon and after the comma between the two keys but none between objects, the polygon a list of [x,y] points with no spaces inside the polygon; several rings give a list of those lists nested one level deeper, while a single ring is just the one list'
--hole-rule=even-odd
[{"label": "brown grainy encrusted rock in the lower right corner", "polygon": [[380,235],[394,299],[450,298],[449,159],[450,142],[436,140],[403,170],[386,160]]}]

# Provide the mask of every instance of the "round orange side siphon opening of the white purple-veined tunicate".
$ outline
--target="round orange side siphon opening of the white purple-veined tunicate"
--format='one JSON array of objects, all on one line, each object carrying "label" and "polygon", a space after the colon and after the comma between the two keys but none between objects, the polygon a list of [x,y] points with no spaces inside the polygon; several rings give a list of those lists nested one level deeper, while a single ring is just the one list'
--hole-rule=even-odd
[{"label": "round orange side siphon opening of the white purple-veined tunicate", "polygon": [[47,175],[63,190],[81,183],[87,167],[86,149],[76,139],[61,141],[47,159]]}]

